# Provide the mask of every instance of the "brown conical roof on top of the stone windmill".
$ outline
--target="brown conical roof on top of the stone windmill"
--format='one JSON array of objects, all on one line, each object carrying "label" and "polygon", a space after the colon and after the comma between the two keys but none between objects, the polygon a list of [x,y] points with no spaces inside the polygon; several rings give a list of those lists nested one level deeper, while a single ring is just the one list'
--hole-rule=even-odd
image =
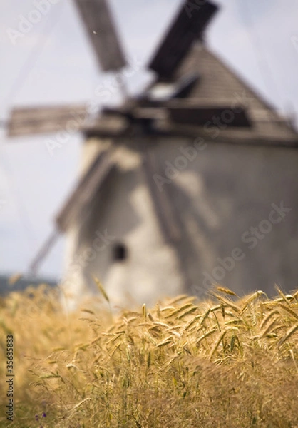
[{"label": "brown conical roof on top of the stone windmill", "polygon": [[[192,79],[188,92],[179,94],[179,82],[183,86],[185,77],[192,76],[198,76],[197,81]],[[142,97],[127,101],[121,108],[103,111],[86,129],[87,135],[130,136],[140,125],[148,133],[210,138],[220,118],[222,142],[298,145],[297,131],[287,118],[202,43],[192,46],[168,81],[168,89],[166,84],[163,81],[163,90],[159,88],[159,101],[158,91],[154,99],[150,98],[155,86],[160,85],[157,80]]]}]

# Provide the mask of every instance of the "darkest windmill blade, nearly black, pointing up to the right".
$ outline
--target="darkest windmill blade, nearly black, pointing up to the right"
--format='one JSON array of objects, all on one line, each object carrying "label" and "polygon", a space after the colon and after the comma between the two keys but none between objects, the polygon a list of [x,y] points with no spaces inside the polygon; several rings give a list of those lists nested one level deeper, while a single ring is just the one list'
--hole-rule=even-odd
[{"label": "darkest windmill blade, nearly black, pointing up to the right", "polygon": [[175,73],[192,43],[202,37],[205,27],[218,9],[207,0],[201,2],[200,6],[195,3],[193,0],[184,2],[149,63],[148,67],[158,73],[160,78],[170,78]]}]

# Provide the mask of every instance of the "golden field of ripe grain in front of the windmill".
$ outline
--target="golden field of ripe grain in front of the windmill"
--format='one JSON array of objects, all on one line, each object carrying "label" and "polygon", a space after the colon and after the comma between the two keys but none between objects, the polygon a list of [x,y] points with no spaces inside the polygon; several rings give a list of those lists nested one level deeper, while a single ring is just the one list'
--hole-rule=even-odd
[{"label": "golden field of ripe grain in front of the windmill", "polygon": [[208,302],[180,296],[118,316],[91,305],[66,315],[43,287],[11,293],[0,301],[0,426],[298,427],[298,292],[278,292],[218,288]]}]

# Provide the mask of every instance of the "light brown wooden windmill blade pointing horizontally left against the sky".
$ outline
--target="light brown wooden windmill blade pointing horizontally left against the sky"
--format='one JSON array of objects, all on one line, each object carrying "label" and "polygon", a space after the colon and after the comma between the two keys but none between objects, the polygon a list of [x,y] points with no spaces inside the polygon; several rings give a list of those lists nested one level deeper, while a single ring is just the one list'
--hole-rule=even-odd
[{"label": "light brown wooden windmill blade pointing horizontally left against the sky", "polygon": [[11,111],[9,136],[26,136],[36,133],[56,132],[69,128],[80,131],[88,117],[86,105],[63,107],[23,107]]}]

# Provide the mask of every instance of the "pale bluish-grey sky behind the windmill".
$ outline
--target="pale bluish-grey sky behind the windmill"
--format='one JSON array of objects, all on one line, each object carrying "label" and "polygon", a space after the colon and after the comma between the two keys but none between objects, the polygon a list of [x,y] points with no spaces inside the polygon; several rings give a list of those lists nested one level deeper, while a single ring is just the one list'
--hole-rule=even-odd
[{"label": "pale bluish-grey sky behind the windmill", "polygon": [[[46,2],[41,19],[19,31]],[[282,113],[298,113],[297,0],[214,0],[220,11],[206,41],[250,86]],[[183,0],[110,0],[125,55],[138,64],[127,78],[130,94],[153,78],[145,64]],[[46,10],[45,9],[45,10]],[[14,31],[19,31],[15,33]],[[108,86],[106,103],[118,100],[111,73],[98,67],[72,0],[2,0],[0,3],[0,123],[13,106],[88,103]],[[143,66],[140,66],[142,64]],[[297,114],[298,117],[298,114]],[[0,128],[0,274],[28,272],[54,228],[54,218],[76,183],[83,137],[71,135],[51,153],[55,134],[7,138]],[[61,277],[65,238],[39,271]]]}]

